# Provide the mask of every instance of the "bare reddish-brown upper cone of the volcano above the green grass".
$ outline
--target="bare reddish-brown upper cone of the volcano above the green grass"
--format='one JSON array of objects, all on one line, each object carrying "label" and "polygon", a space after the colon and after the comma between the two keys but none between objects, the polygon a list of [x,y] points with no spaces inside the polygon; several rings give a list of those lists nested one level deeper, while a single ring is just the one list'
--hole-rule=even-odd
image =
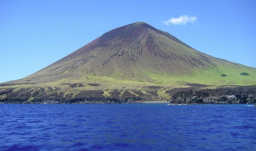
[{"label": "bare reddish-brown upper cone of the volcano above the green grass", "polygon": [[136,22],[103,34],[27,78],[48,82],[52,76],[77,78],[95,73],[124,79],[145,77],[143,71],[177,75],[214,67],[213,60],[222,62],[147,23]]}]

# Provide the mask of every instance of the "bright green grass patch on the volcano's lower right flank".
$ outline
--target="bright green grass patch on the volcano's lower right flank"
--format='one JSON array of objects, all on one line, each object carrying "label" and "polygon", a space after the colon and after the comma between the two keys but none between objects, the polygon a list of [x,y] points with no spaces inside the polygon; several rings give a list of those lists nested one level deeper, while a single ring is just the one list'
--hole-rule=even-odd
[{"label": "bright green grass patch on the volcano's lower right flank", "polygon": [[[241,76],[240,71],[250,71],[250,76]],[[220,76],[220,73],[225,73],[228,76],[225,78]],[[194,70],[190,75],[179,74],[170,75],[167,73],[158,72],[146,72],[148,77],[153,81],[159,81],[163,85],[181,85],[184,83],[199,83],[209,85],[255,85],[256,84],[256,69],[245,68],[243,66],[239,68],[219,66],[208,70]]]}]

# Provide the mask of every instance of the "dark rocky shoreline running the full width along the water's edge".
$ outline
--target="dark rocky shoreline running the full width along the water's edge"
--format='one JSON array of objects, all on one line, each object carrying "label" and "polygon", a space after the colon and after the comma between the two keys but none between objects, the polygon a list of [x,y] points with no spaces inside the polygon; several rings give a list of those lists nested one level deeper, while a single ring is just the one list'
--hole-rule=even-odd
[{"label": "dark rocky shoreline running the full width along the water's edge", "polygon": [[255,104],[256,86],[227,87],[217,89],[197,89],[179,91],[170,100],[149,100],[143,97],[80,97],[80,98],[3,98],[5,104],[90,104],[90,103],[170,103],[170,105],[188,104]]}]

